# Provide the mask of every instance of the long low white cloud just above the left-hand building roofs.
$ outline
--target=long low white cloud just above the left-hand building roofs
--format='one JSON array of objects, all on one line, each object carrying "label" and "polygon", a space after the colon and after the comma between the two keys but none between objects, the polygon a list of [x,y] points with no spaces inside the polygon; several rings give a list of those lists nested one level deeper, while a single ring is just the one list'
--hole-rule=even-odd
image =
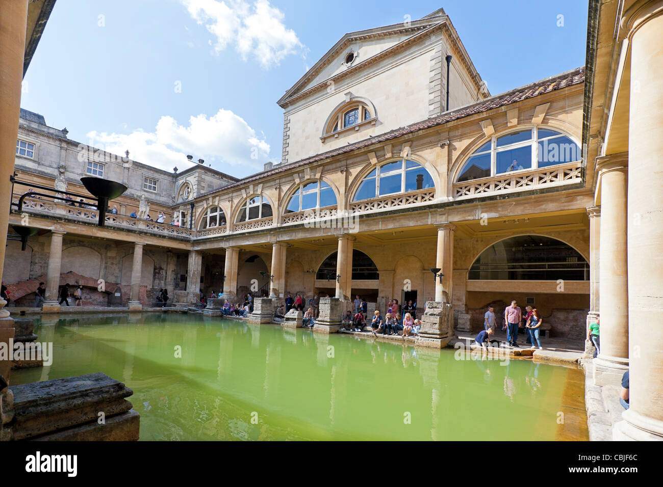
[{"label": "long low white cloud just above the left-hand building roofs", "polygon": [[269,158],[265,136],[257,136],[244,119],[223,109],[209,118],[206,115],[192,116],[188,126],[164,115],[156,123],[154,132],[143,129],[129,134],[91,131],[87,136],[90,139],[88,144],[95,148],[120,156],[129,150],[131,159],[166,171],[172,171],[174,166],[179,170],[192,166],[186,160],[186,154],[192,154],[194,160],[204,159],[213,168],[229,173],[232,169],[224,166],[260,170]]}]

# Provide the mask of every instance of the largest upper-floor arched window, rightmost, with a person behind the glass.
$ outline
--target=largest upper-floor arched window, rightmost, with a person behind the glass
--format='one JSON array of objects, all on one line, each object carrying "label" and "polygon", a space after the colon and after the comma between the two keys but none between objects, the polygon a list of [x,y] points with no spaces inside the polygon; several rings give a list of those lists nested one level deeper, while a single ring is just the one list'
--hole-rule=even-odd
[{"label": "largest upper-floor arched window, rightmost, with a person behind the glass", "polygon": [[558,131],[531,127],[505,135],[493,135],[463,165],[456,182],[488,178],[582,158],[580,146]]}]

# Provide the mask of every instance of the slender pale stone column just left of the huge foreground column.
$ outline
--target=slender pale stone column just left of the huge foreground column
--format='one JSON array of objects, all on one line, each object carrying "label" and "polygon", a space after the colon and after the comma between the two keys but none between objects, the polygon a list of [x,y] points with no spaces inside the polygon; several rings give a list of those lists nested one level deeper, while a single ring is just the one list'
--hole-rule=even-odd
[{"label": "slender pale stone column just left of the huge foreground column", "polygon": [[627,278],[628,154],[596,160],[601,184],[599,295],[601,352],[594,360],[594,382],[611,384],[629,368],[629,282]]}]

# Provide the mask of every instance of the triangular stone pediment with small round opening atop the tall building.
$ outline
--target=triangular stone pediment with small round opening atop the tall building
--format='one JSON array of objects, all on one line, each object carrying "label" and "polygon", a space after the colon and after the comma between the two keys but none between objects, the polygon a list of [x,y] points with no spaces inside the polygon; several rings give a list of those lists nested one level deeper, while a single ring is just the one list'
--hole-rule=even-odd
[{"label": "triangular stone pediment with small round opening atop the tall building", "polygon": [[360,66],[368,59],[388,52],[394,46],[421,34],[424,30],[443,23],[447,18],[444,10],[439,9],[416,21],[404,19],[400,24],[345,34],[300,80],[286,91],[278,100],[278,104],[282,105],[299,93],[320,85],[355,66]]}]

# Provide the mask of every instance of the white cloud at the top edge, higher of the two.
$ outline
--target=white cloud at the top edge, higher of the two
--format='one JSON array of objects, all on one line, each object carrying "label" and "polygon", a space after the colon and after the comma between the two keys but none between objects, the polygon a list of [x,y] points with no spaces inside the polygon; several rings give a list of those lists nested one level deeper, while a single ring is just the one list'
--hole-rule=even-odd
[{"label": "white cloud at the top edge, higher of the two", "polygon": [[181,1],[191,17],[216,37],[210,45],[217,55],[232,44],[244,60],[252,55],[267,69],[288,54],[306,52],[294,30],[283,24],[283,13],[268,0],[256,0],[253,6],[243,0]]}]

